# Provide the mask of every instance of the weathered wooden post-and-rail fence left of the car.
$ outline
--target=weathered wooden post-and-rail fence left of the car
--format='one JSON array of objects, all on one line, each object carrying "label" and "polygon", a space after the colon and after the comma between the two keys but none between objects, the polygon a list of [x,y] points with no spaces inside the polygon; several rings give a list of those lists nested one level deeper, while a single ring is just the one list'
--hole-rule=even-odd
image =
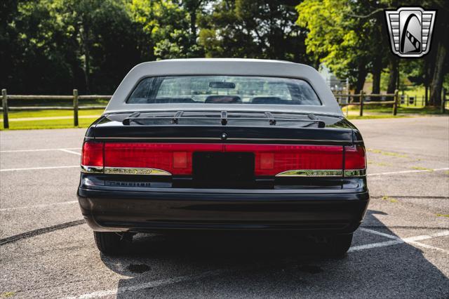
[{"label": "weathered wooden post-and-rail fence left of the car", "polygon": [[[105,109],[106,106],[79,106],[82,100],[110,100],[112,95],[78,95],[78,90],[73,90],[73,95],[8,95],[6,89],[1,90],[1,106],[3,109],[4,128],[9,128],[8,111],[15,110],[73,110],[73,124],[78,126],[78,110],[81,109]],[[20,106],[8,107],[8,100],[71,100],[73,105],[61,106]]]}]

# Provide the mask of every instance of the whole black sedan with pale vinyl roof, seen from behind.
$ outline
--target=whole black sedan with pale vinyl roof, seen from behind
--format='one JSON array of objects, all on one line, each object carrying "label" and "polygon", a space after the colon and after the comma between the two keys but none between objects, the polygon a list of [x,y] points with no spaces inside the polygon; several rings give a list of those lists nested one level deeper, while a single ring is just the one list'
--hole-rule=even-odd
[{"label": "whole black sedan with pale vinyl roof, seen from behind", "polygon": [[325,81],[272,60],[145,62],[86,133],[78,189],[105,254],[137,232],[291,232],[344,254],[366,153]]}]

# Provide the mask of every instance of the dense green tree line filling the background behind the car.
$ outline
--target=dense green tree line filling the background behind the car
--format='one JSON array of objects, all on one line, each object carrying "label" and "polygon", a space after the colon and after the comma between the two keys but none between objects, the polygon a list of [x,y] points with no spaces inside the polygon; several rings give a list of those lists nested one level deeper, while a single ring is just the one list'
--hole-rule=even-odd
[{"label": "dense green tree line filling the background behind the car", "polygon": [[424,59],[399,62],[399,87],[448,88],[449,58],[437,53],[448,53],[448,8],[437,0],[4,0],[0,88],[112,93],[139,62],[194,57],[324,63],[356,90],[368,73],[395,88],[382,8],[415,4],[438,9],[434,45]]}]

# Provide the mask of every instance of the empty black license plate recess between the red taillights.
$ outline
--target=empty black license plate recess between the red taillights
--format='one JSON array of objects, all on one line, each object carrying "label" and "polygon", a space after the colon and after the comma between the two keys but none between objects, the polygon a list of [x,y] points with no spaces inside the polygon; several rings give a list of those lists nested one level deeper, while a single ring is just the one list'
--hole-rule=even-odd
[{"label": "empty black license plate recess between the red taillights", "polygon": [[211,187],[254,182],[254,160],[252,152],[194,152],[194,181]]}]

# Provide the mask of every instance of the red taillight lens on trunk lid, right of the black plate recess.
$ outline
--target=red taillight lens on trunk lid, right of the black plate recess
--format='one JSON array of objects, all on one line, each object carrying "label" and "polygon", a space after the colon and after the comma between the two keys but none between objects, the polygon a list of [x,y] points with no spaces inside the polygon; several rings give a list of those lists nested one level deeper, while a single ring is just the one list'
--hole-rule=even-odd
[{"label": "red taillight lens on trunk lid, right of the black plate recess", "polygon": [[225,152],[253,152],[255,175],[291,170],[342,170],[343,147],[337,145],[225,145]]}]

